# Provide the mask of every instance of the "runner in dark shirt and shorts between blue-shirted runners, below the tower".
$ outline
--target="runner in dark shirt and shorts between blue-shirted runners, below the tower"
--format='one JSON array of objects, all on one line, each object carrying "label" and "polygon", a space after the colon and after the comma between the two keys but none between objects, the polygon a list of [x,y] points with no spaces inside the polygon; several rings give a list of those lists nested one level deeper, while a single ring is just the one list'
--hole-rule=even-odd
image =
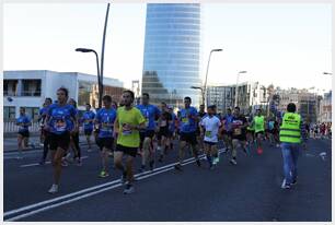
[{"label": "runner in dark shirt and shorts between blue-shirted runners, below the tower", "polygon": [[163,162],[164,154],[166,154],[165,146],[166,146],[166,140],[170,133],[169,127],[170,127],[171,121],[172,121],[172,116],[169,112],[168,105],[163,102],[161,104],[161,115],[158,120],[160,130],[157,135],[157,140],[158,140],[157,151],[160,154],[160,157],[159,157],[160,163]]}]

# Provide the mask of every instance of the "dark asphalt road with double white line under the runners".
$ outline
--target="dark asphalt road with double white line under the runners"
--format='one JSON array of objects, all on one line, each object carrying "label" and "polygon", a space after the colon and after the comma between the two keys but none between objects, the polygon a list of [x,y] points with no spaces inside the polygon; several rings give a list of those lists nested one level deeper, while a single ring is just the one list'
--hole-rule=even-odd
[{"label": "dark asphalt road with double white line under the runners", "polygon": [[[176,145],[176,144],[175,144]],[[150,173],[138,171],[135,193],[123,194],[120,174],[99,178],[99,151],[86,152],[83,165],[63,168],[60,190],[49,194],[51,166],[38,166],[41,151],[25,153],[21,161],[4,154],[4,221],[111,221],[111,222],[328,222],[332,220],[331,140],[310,140],[299,158],[298,185],[280,189],[280,149],[265,144],[263,155],[252,151],[229,164],[220,154],[213,170],[205,161],[199,168],[186,154],[184,171],[173,169],[176,150]],[[326,156],[320,156],[325,153]]]}]

